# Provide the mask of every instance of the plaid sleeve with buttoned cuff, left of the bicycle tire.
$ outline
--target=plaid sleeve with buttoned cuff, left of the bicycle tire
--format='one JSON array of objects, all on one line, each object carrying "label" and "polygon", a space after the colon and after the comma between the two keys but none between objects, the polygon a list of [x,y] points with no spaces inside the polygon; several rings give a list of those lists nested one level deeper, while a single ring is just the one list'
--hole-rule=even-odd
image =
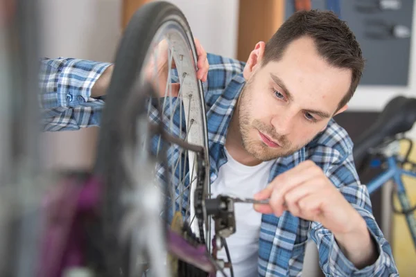
[{"label": "plaid sleeve with buttoned cuff, left of the bicycle tire", "polygon": [[104,101],[91,98],[91,90],[110,65],[64,57],[41,60],[42,129],[59,131],[99,125]]}]

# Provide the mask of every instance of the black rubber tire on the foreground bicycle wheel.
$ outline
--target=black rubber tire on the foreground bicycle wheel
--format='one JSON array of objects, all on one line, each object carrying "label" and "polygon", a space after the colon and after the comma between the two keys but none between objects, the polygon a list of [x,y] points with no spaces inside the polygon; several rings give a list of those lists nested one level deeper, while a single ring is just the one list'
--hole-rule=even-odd
[{"label": "black rubber tire on the foreground bicycle wheel", "polygon": [[[121,151],[123,143],[120,133],[123,132],[120,123],[123,109],[127,103],[132,87],[139,72],[144,66],[144,59],[148,54],[153,38],[159,28],[168,20],[177,20],[187,34],[187,43],[192,50],[193,62],[196,64],[196,46],[193,36],[182,12],[173,4],[164,1],[147,3],[142,6],[130,20],[116,53],[114,71],[110,87],[107,90],[106,105],[103,110],[101,132],[98,139],[96,166],[94,174],[103,182],[103,201],[101,203],[102,238],[105,242],[103,251],[111,253],[104,255],[106,276],[117,276],[119,268],[127,271],[128,265],[123,260],[123,250],[117,241],[118,226],[123,211],[119,206],[119,184],[125,181],[125,170],[121,165]],[[207,119],[205,102],[202,94],[202,84],[198,81],[198,96],[202,102],[202,121],[205,128],[203,140],[207,151]],[[207,177],[209,175],[207,174]],[[107,257],[105,257],[107,256]]]}]

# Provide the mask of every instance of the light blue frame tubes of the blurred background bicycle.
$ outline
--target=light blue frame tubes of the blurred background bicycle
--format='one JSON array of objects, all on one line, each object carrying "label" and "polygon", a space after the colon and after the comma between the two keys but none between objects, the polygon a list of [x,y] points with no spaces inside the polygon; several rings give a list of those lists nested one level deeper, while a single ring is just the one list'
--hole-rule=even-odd
[{"label": "light blue frame tubes of the blurred background bicycle", "polygon": [[[378,190],[385,184],[387,181],[392,180],[395,182],[396,188],[397,188],[397,197],[399,198],[399,202],[401,205],[401,208],[403,211],[410,210],[410,201],[408,198],[408,195],[406,193],[406,188],[404,187],[404,183],[401,180],[401,177],[403,175],[407,175],[410,177],[416,178],[416,172],[412,172],[409,170],[404,170],[400,166],[397,165],[397,159],[396,157],[387,157],[387,170],[382,172],[379,176],[374,177],[368,184],[368,192],[370,195],[374,193],[374,191]],[[415,244],[416,248],[416,219],[414,213],[406,213],[406,222],[409,226],[410,234],[413,238],[413,243]]]}]

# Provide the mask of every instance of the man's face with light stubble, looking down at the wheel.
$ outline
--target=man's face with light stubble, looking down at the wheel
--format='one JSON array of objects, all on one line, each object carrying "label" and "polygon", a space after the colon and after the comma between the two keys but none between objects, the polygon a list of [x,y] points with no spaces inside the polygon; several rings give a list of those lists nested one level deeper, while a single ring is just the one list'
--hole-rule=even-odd
[{"label": "man's face with light stubble, looking down at the wheel", "polygon": [[336,114],[351,78],[351,70],[327,64],[309,37],[292,42],[279,62],[257,63],[239,99],[245,150],[268,161],[302,148]]}]

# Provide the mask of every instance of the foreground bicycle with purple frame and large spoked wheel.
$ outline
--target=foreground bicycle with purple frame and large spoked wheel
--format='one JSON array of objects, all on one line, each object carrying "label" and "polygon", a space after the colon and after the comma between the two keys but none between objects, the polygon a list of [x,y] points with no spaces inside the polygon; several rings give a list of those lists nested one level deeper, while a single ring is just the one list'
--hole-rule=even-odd
[{"label": "foreground bicycle with purple frame and large spoked wheel", "polygon": [[[155,1],[137,10],[116,52],[94,172],[61,175],[43,199],[37,276],[225,276],[227,267],[232,274],[225,238],[235,232],[233,202],[209,199],[196,62],[176,6]],[[177,95],[171,82],[180,84]],[[227,262],[216,258],[222,247]]]}]

